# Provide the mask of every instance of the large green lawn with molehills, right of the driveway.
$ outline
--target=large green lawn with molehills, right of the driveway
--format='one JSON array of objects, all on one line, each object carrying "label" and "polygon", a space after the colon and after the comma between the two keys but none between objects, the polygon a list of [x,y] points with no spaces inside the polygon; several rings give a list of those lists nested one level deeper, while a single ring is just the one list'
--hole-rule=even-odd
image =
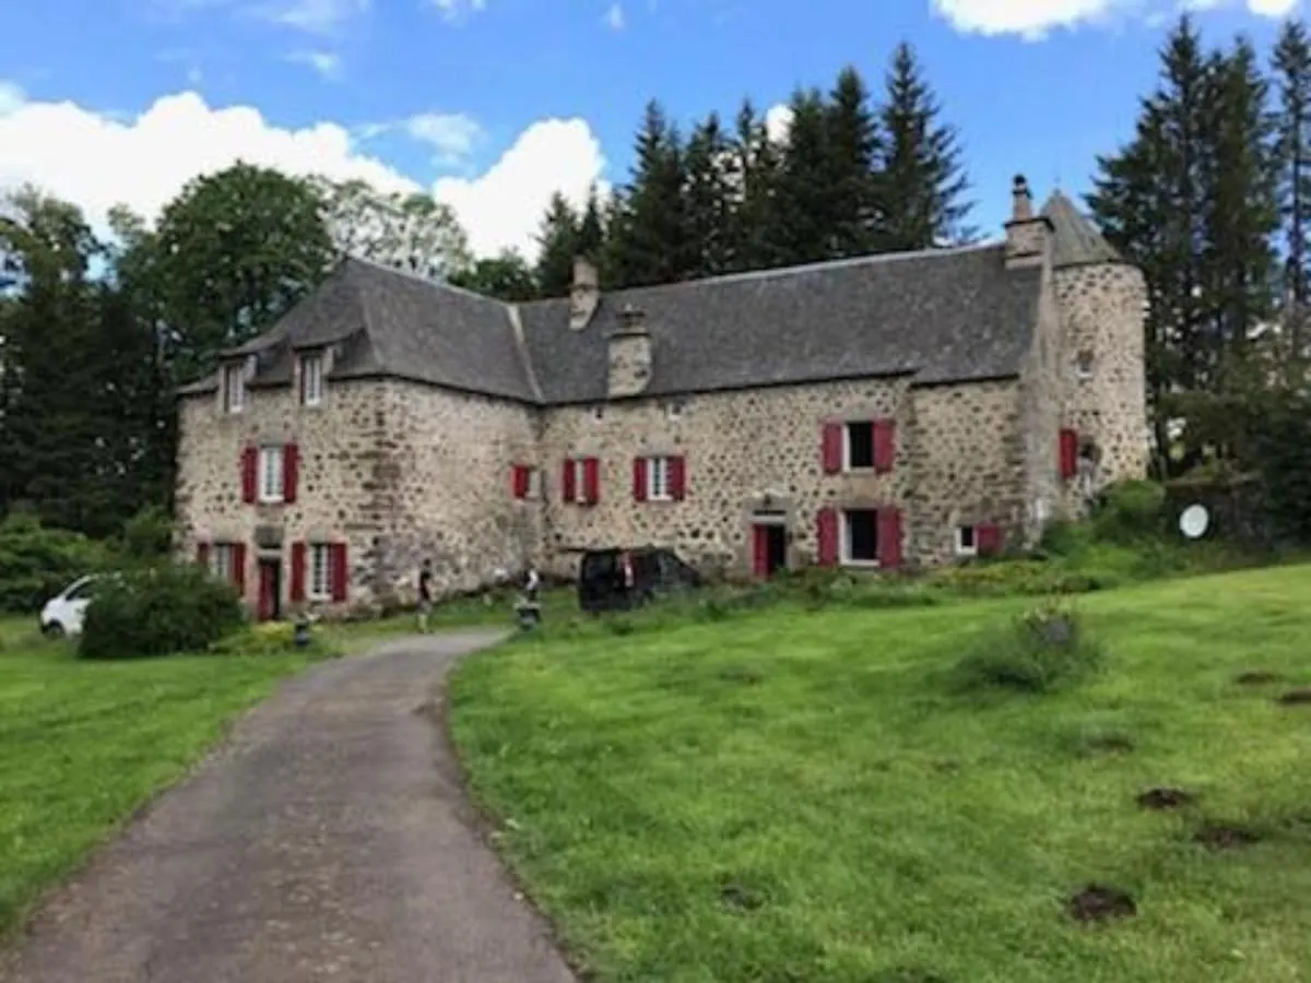
[{"label": "large green lawn with molehills, right of the driveway", "polygon": [[[463,665],[452,730],[597,980],[1311,976],[1311,706],[1273,701],[1311,684],[1311,568],[1080,598],[1099,676],[954,692],[1032,603],[548,626]],[[1139,809],[1156,785],[1198,803]],[[1206,822],[1262,840],[1209,849]],[[1074,923],[1089,883],[1137,917]]]}]

